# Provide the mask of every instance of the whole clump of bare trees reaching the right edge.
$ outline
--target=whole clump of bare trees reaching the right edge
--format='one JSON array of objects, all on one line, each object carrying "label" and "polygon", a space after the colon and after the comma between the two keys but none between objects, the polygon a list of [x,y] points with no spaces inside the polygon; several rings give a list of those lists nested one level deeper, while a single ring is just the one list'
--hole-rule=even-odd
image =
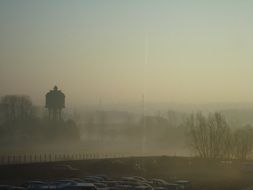
[{"label": "whole clump of bare trees reaching the right edge", "polygon": [[253,150],[253,128],[231,129],[221,113],[201,112],[186,119],[190,147],[205,159],[248,159]]}]

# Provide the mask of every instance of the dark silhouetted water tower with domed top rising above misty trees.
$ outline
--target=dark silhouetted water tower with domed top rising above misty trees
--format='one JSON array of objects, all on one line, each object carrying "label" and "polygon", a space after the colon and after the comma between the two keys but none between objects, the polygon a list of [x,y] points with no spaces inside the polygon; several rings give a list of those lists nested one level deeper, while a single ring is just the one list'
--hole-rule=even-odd
[{"label": "dark silhouetted water tower with domed top rising above misty trees", "polygon": [[46,94],[46,106],[50,121],[61,120],[61,110],[65,108],[65,95],[58,90],[57,86]]}]

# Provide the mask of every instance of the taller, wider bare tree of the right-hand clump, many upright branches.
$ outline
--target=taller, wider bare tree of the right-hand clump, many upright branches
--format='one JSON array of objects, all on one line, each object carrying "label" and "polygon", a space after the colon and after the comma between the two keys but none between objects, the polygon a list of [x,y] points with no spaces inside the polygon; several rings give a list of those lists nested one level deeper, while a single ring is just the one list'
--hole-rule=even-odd
[{"label": "taller, wider bare tree of the right-hand clump, many upright branches", "polygon": [[230,128],[220,113],[192,114],[186,123],[189,128],[191,147],[202,158],[218,159],[228,155]]}]

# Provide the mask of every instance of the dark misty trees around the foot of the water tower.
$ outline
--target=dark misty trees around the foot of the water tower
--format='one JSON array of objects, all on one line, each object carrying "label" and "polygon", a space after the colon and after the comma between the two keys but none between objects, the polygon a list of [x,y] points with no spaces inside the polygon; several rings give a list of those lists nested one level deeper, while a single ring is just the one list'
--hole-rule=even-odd
[{"label": "dark misty trees around the foot of the water tower", "polygon": [[51,122],[42,117],[29,96],[6,95],[0,99],[0,137],[11,144],[79,140],[80,134],[73,120]]}]

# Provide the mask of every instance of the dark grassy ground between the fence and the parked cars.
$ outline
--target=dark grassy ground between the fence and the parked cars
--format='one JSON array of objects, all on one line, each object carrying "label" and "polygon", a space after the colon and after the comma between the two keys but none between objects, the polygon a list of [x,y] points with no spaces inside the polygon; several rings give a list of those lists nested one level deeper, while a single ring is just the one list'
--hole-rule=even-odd
[{"label": "dark grassy ground between the fence and the parked cars", "polygon": [[[79,171],[56,170],[69,164]],[[248,166],[248,165],[247,165]],[[143,157],[36,163],[0,166],[1,184],[19,184],[26,180],[51,181],[68,177],[104,174],[111,178],[143,176],[191,180],[195,190],[239,190],[253,185],[253,170],[244,163],[223,163],[185,157]]]}]

